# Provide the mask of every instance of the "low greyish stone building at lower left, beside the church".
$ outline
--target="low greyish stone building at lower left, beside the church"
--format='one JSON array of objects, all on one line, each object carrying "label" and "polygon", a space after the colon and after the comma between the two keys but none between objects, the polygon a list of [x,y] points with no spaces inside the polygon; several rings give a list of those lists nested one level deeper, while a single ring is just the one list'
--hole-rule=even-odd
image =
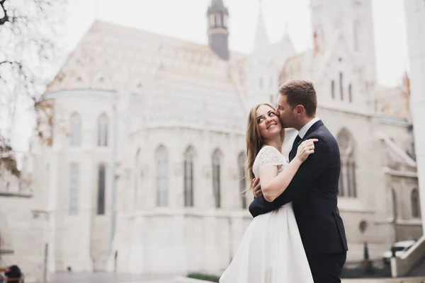
[{"label": "low greyish stone building at lower left, beside the church", "polygon": [[0,266],[18,265],[26,282],[42,282],[46,214],[38,211],[27,183],[1,170]]}]

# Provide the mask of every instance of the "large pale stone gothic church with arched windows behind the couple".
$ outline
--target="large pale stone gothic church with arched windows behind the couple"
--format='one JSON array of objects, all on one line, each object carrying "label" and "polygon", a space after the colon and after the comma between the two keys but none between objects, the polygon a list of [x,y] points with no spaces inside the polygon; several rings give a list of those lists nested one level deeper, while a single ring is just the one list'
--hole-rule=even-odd
[{"label": "large pale stone gothic church with arched windows behind the couple", "polygon": [[[370,1],[356,1],[339,29],[351,1],[316,2],[322,43],[316,32],[303,54],[287,33],[269,44],[261,15],[256,37],[266,44],[229,61],[208,46],[94,23],[47,90],[52,146],[32,141],[33,183],[51,212],[50,272],[227,267],[251,220],[246,116],[274,104],[288,79],[314,81],[317,114],[339,140],[348,261],[361,260],[365,241],[380,258],[421,235],[410,122],[375,111]],[[296,134],[288,129],[286,154]]]}]

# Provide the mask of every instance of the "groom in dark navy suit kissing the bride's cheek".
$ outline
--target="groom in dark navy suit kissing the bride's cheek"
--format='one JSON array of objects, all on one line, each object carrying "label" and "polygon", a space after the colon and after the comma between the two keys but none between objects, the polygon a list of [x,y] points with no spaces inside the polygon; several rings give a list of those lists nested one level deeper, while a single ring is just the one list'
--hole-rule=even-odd
[{"label": "groom in dark navy suit kissing the bride's cheek", "polygon": [[255,217],[292,202],[314,283],[334,283],[341,282],[348,250],[336,206],[341,163],[336,139],[316,117],[316,108],[316,91],[310,81],[288,81],[280,86],[276,115],[284,128],[299,131],[289,160],[295,157],[301,141],[319,141],[314,143],[314,154],[302,163],[288,188],[273,202],[263,197],[259,179],[255,180],[256,198],[249,212]]}]

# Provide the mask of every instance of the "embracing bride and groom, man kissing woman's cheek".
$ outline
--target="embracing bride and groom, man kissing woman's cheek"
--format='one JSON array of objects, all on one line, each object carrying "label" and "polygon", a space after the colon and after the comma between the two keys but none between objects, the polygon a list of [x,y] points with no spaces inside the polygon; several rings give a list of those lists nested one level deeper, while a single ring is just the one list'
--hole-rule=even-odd
[{"label": "embracing bride and groom, man kissing woman's cheek", "polygon": [[[339,147],[316,108],[310,81],[288,81],[276,109],[251,109],[246,154],[254,219],[220,283],[341,282],[348,248],[337,207]],[[280,151],[290,127],[299,132],[288,162]]]}]

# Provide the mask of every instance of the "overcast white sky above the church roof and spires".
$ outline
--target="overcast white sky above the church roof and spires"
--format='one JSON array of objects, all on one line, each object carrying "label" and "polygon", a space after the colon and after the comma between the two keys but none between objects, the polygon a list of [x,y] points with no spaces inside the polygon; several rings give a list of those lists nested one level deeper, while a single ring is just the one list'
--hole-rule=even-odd
[{"label": "overcast white sky above the church roof and spires", "polygon": [[[211,0],[69,0],[67,42],[77,44],[97,18],[142,30],[206,44],[206,11]],[[310,0],[262,0],[271,42],[279,40],[288,22],[298,52],[311,46]],[[344,1],[344,0],[339,0]],[[408,69],[403,0],[372,0],[378,83],[395,86]],[[225,0],[229,8],[229,45],[249,52],[259,0]]]}]

